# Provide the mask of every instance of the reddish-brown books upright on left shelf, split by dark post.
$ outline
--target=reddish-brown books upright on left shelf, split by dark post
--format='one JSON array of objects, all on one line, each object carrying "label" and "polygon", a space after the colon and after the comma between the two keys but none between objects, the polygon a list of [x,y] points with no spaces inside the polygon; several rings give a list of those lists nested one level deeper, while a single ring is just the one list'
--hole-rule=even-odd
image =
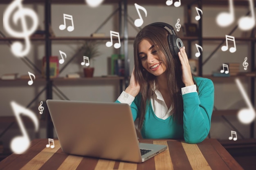
[{"label": "reddish-brown books upright on left shelf, split by dark post", "polygon": [[[58,77],[59,73],[59,65],[58,65],[58,56],[50,56],[49,57],[49,69],[50,69],[50,77]],[[42,76],[45,77],[46,74],[46,57],[43,57],[43,66],[42,66]]]}]

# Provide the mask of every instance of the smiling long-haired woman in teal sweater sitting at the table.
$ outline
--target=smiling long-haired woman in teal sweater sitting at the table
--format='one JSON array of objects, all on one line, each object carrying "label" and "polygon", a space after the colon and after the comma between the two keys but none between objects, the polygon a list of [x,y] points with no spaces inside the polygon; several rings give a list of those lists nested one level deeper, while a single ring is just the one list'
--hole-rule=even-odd
[{"label": "smiling long-haired woman in teal sweater sitting at the table", "polygon": [[133,44],[135,67],[130,84],[116,102],[131,106],[144,138],[200,143],[211,126],[213,82],[192,76],[185,47],[175,54],[168,44],[170,35],[157,24],[139,31]]}]

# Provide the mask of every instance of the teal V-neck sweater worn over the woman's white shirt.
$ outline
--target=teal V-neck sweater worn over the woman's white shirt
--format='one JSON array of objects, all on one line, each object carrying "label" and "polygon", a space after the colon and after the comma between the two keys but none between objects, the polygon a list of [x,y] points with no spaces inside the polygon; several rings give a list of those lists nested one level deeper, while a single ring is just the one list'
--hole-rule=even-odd
[{"label": "teal V-neck sweater worn over the woman's white shirt", "polygon": [[[159,119],[150,106],[146,111],[141,135],[148,139],[184,138],[187,143],[196,144],[203,141],[211,127],[211,115],[214,103],[214,86],[210,79],[194,77],[198,93],[187,93],[183,98],[183,125],[173,119]],[[132,117],[138,118],[141,95],[137,95],[131,104]],[[116,102],[119,102],[118,100]],[[175,114],[175,113],[174,113]]]}]

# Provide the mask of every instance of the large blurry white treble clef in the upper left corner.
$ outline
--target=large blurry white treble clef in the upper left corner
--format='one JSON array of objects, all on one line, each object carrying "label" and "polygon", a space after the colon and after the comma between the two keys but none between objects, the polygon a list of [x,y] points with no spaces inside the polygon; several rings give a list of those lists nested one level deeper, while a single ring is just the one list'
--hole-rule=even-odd
[{"label": "large blurry white treble clef in the upper left corner", "polygon": [[[13,42],[11,45],[11,51],[17,57],[23,57],[29,53],[30,50],[30,41],[29,36],[36,31],[38,26],[38,17],[36,13],[28,8],[23,8],[22,2],[23,0],[13,0],[11,4],[7,7],[6,11],[3,15],[3,26],[4,29],[13,37],[16,38],[24,38],[25,40],[25,48],[21,42]],[[9,23],[9,19],[13,16],[13,23],[18,24],[21,23],[22,31],[13,30]],[[31,29],[27,28],[26,17],[30,17],[32,22]],[[20,20],[20,22],[18,22]]]}]

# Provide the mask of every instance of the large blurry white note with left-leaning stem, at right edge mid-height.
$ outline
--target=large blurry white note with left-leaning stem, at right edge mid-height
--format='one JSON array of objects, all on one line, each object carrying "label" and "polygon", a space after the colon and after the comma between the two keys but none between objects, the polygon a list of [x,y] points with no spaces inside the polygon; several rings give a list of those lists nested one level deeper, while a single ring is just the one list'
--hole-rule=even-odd
[{"label": "large blurry white note with left-leaning stem, at right edge mid-height", "polygon": [[240,82],[240,79],[236,78],[236,85],[238,86],[248,108],[242,108],[238,111],[238,119],[243,123],[243,124],[250,124],[252,121],[255,119],[255,110],[254,107],[252,106],[252,103],[249,100],[249,97],[247,96],[245,89],[243,88],[243,85]]}]

